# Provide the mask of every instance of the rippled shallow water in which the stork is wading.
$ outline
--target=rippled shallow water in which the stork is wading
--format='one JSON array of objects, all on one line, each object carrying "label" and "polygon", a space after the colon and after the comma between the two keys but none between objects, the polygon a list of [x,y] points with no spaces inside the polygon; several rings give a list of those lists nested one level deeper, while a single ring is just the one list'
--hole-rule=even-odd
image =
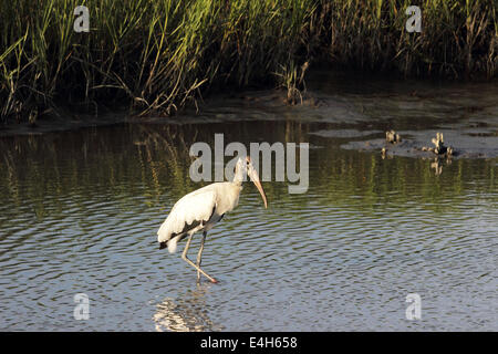
[{"label": "rippled shallow water in which the stork is wading", "polygon": [[[344,149],[372,137],[355,132],[382,137],[390,127],[356,110],[372,103],[366,88],[325,85],[321,100],[334,103],[318,108],[226,101],[183,121],[195,123],[0,138],[0,330],[497,331],[498,159],[442,162],[437,173],[432,160]],[[395,119],[390,104],[406,97],[381,95],[376,107]],[[403,108],[400,128],[439,128],[432,98],[418,100],[426,117],[412,123]],[[488,115],[470,114],[492,131],[496,107],[483,100]],[[264,210],[247,184],[206,242],[203,267],[220,283],[196,285],[179,252],[159,251],[156,231],[204,185],[188,177],[188,148],[212,145],[215,133],[226,143],[310,142],[310,185],[290,195],[287,183],[263,183]],[[73,317],[76,293],[90,298],[87,321]],[[408,293],[421,295],[422,320],[406,319]]]}]

